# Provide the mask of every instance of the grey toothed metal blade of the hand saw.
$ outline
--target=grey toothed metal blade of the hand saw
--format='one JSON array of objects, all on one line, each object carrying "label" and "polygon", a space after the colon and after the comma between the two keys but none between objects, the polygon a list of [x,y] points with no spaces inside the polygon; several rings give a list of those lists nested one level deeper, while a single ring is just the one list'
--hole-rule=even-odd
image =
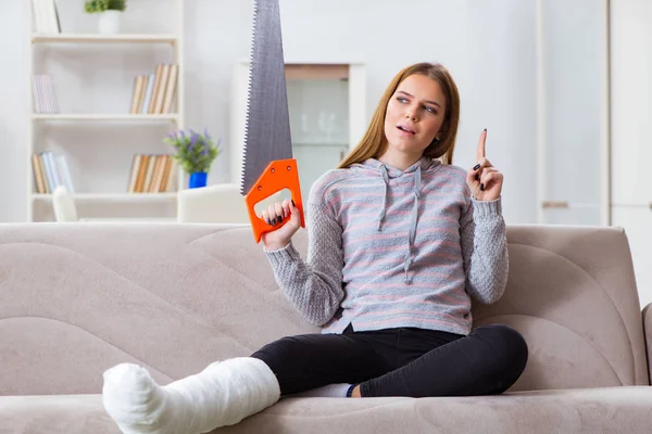
[{"label": "grey toothed metal blade of the hand saw", "polygon": [[292,157],[278,0],[254,0],[250,60],[241,194],[271,162]]}]

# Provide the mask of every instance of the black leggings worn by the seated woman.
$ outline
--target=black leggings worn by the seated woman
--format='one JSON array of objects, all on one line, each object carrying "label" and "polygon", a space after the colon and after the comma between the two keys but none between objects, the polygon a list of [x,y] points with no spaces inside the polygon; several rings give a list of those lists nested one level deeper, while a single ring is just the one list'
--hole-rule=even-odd
[{"label": "black leggings worn by the seated woman", "polygon": [[467,336],[412,328],[283,337],[252,355],[276,374],[281,396],[333,383],[363,397],[501,394],[518,380],[527,344],[514,329],[482,326]]}]

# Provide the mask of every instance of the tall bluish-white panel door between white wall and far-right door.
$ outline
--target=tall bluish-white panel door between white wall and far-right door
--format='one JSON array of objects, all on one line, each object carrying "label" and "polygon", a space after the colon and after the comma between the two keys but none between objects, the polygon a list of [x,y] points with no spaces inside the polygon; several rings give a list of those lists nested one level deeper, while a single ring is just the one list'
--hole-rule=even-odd
[{"label": "tall bluish-white panel door between white wall and far-right door", "polygon": [[539,219],[606,224],[606,0],[538,4]]}]

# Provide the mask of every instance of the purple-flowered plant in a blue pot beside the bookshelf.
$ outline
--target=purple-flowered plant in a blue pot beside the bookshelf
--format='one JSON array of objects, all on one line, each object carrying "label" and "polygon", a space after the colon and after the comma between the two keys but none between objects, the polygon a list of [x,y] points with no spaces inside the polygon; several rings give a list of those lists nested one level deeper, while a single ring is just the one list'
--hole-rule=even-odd
[{"label": "purple-flowered plant in a blue pot beside the bookshelf", "polygon": [[163,141],[175,149],[174,158],[190,176],[188,188],[205,187],[211,165],[221,151],[220,141],[215,143],[208,130],[201,135],[192,129],[171,132]]}]

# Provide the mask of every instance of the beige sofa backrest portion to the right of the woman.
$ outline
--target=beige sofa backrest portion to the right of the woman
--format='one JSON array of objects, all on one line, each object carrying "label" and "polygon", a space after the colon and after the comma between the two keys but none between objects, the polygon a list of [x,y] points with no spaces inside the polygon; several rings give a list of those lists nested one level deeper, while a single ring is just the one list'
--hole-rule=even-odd
[{"label": "beige sofa backrest portion to the right of the woman", "polygon": [[510,278],[474,326],[507,323],[530,357],[513,391],[649,385],[642,315],[620,228],[511,226]]}]

